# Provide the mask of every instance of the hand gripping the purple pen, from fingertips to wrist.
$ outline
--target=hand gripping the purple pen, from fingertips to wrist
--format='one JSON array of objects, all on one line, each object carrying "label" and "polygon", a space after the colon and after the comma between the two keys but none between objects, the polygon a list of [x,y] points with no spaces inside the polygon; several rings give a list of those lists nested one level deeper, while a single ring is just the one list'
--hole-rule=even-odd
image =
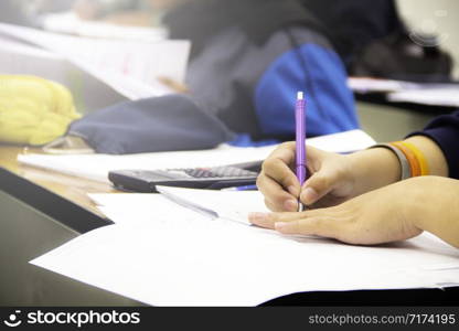
[{"label": "hand gripping the purple pen, from fingertips to wrist", "polygon": [[309,179],[300,186],[292,167],[296,143],[277,148],[264,162],[257,180],[267,206],[275,212],[298,210],[298,200],[308,206],[332,206],[353,195],[352,164],[346,157],[307,147]]}]

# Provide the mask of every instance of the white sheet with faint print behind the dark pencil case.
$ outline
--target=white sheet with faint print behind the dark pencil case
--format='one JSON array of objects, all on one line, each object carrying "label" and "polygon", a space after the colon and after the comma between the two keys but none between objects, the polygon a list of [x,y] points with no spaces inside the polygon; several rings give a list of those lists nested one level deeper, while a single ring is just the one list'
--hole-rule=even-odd
[{"label": "white sheet with faint print behind the dark pencil case", "polygon": [[3,23],[0,33],[62,55],[130,99],[171,93],[158,78],[182,83],[191,46],[189,41],[94,40]]}]

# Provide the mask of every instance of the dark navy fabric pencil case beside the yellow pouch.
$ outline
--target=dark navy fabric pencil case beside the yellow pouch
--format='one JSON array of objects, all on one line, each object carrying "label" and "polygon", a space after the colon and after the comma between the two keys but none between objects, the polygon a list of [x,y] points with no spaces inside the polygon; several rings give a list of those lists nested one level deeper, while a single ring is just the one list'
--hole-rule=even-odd
[{"label": "dark navy fabric pencil case beside the yellow pouch", "polygon": [[73,122],[67,132],[99,153],[211,149],[234,139],[216,117],[185,95],[127,102]]}]

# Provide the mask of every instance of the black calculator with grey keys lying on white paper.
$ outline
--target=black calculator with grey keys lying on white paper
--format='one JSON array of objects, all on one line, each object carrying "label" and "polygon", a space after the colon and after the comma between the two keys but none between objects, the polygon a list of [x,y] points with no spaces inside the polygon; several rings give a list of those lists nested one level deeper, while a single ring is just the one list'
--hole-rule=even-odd
[{"label": "black calculator with grey keys lying on white paper", "polygon": [[122,191],[152,193],[160,186],[221,190],[254,185],[261,161],[213,168],[111,171],[108,179]]}]

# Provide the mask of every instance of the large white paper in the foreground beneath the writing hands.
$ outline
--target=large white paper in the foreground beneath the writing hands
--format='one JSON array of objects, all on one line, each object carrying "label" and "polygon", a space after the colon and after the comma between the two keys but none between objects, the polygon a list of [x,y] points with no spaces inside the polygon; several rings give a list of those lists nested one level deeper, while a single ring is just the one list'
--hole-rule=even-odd
[{"label": "large white paper in the foreground beneath the writing hands", "polygon": [[149,196],[124,204],[104,196],[102,210],[116,225],[31,263],[153,306],[255,306],[301,291],[459,284],[458,249],[429,234],[350,246],[212,220]]}]

